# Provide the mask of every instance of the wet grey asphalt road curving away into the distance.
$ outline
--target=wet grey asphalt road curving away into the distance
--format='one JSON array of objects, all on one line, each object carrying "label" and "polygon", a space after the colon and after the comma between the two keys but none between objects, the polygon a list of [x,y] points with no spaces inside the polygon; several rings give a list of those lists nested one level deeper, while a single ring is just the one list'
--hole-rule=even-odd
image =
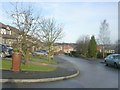
[{"label": "wet grey asphalt road curving away into the distance", "polygon": [[6,83],[7,88],[118,88],[118,69],[107,67],[99,61],[88,61],[69,56],[58,56],[70,61],[80,70],[80,75],[63,81],[47,83]]}]

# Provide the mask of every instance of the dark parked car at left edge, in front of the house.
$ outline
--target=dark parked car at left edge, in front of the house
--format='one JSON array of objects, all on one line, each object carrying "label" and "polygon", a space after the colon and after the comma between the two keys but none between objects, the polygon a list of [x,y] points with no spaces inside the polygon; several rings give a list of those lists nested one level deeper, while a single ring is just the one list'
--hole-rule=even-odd
[{"label": "dark parked car at left edge, in front of the house", "polygon": [[9,45],[0,44],[0,57],[12,56],[13,48]]}]

